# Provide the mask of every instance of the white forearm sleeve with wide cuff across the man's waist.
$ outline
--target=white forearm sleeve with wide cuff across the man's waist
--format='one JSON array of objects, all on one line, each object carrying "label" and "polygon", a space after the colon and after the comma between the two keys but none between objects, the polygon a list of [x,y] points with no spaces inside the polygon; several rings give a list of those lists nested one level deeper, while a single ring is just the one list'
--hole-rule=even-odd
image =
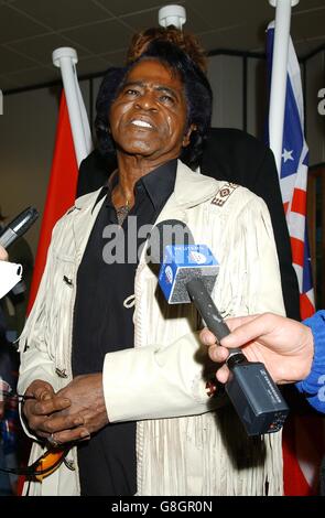
[{"label": "white forearm sleeve with wide cuff across the man's waist", "polygon": [[212,409],[197,333],[161,348],[109,353],[102,370],[110,422],[204,413]]}]

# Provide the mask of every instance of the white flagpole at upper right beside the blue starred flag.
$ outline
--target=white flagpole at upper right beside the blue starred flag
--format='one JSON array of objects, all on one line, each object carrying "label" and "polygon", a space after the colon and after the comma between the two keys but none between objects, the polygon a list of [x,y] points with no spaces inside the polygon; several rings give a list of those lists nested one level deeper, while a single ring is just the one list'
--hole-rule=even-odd
[{"label": "white flagpole at upper right beside the blue starred flag", "polygon": [[273,151],[278,173],[281,173],[284,105],[286,91],[288,48],[290,40],[291,8],[300,0],[269,0],[277,8],[270,95],[270,148]]}]

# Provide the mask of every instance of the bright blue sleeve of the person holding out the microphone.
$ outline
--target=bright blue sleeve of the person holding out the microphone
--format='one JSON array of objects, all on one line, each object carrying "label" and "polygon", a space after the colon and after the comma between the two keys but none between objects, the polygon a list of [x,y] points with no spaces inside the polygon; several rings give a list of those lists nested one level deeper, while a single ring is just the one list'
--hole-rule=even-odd
[{"label": "bright blue sleeve of the person holding out the microphone", "polygon": [[325,311],[317,311],[303,324],[312,330],[315,352],[310,375],[296,388],[314,409],[325,413]]}]

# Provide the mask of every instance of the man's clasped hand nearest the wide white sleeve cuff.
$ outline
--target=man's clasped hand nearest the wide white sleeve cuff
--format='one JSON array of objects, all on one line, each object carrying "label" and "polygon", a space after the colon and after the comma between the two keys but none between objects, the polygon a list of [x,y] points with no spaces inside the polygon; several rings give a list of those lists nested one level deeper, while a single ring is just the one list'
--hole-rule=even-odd
[{"label": "man's clasped hand nearest the wide white sleeve cuff", "polygon": [[[77,430],[84,434],[78,439],[87,439],[87,435],[89,438],[90,433],[97,432],[108,423],[101,373],[77,376],[59,390],[56,397],[71,401],[59,416],[72,420],[83,418],[83,427]],[[55,433],[53,439],[58,443],[71,441],[71,431],[62,430]]]}]

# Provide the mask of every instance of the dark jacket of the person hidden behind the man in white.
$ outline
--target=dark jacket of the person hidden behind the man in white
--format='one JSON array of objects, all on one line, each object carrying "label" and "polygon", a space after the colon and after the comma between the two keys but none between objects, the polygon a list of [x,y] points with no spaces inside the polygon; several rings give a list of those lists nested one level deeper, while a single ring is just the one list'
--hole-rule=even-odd
[{"label": "dark jacket of the person hidden behind the man in white", "polygon": [[[78,174],[78,196],[95,191],[116,169],[115,158],[98,150],[83,160]],[[262,142],[231,128],[210,128],[204,144],[201,170],[207,176],[235,182],[264,199],[270,211],[280,262],[286,316],[301,320],[300,296],[278,172],[272,151]]]}]

